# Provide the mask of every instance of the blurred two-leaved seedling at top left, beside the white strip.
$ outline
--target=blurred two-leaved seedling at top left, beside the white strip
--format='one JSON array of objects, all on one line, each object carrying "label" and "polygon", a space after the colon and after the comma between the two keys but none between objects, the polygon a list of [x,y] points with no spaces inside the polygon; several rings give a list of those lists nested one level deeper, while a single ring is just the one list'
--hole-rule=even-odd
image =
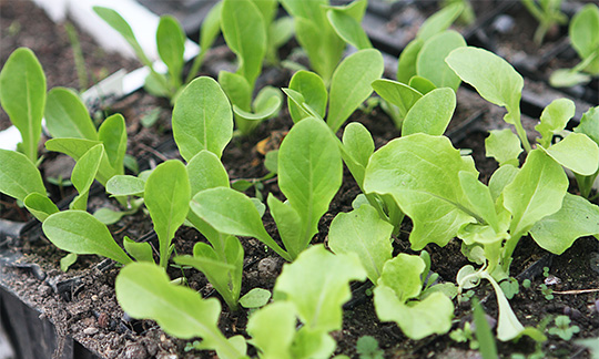
[{"label": "blurred two-leaved seedling at top left, beside the white strip", "polygon": [[119,12],[103,7],[93,7],[93,11],[123,37],[133,48],[138,59],[150,69],[150,74],[145,79],[148,92],[174,100],[182,88],[183,53],[185,52],[186,39],[179,21],[172,16],[162,16],[156,29],[158,52],[169,72],[169,75],[164,75],[154,70],[152,61],[135,39],[133,30]]}]

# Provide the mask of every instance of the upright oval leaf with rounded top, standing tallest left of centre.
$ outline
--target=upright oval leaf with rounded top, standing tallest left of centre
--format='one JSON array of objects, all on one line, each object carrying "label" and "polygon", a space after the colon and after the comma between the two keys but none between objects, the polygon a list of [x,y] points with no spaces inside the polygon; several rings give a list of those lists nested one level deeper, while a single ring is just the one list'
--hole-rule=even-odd
[{"label": "upright oval leaf with rounded top, standing tallest left of centre", "polygon": [[183,90],[173,110],[173,136],[185,161],[202,150],[221,157],[233,136],[233,113],[216,81],[202,76]]}]

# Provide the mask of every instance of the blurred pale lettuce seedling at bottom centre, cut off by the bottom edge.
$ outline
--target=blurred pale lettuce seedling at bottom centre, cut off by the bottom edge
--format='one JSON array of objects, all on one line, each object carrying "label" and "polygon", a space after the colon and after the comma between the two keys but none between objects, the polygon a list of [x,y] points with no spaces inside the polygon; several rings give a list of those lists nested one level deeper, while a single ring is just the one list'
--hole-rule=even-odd
[{"label": "blurred pale lettuce seedling at bottom centre, cut off by the bottom edge", "polygon": [[342,328],[342,306],[352,296],[349,281],[365,278],[356,256],[333,255],[323,245],[308,248],[283,266],[274,302],[250,317],[250,342],[261,358],[331,357],[336,343],[328,332]]}]

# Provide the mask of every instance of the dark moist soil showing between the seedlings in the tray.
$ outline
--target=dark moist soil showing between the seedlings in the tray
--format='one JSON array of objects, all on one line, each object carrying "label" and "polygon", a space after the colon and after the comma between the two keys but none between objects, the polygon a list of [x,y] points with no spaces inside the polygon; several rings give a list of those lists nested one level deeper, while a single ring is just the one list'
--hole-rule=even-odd
[{"label": "dark moist soil showing between the seedlings in the tray", "polygon": [[[7,7],[7,1],[2,1],[2,12]],[[2,14],[3,16],[3,14]],[[2,28],[3,29],[3,28]],[[216,50],[215,52],[223,51]],[[227,64],[215,64],[214,68],[227,66]],[[210,66],[209,66],[210,68]],[[282,76],[273,75],[266,82],[276,85],[286,85],[283,80],[290,74]],[[288,80],[288,78],[287,78]],[[283,83],[281,83],[283,82]],[[480,171],[480,180],[487,182],[497,164],[485,157],[484,141],[487,130],[501,129],[506,125],[501,121],[505,111],[498,106],[488,105],[480,101],[469,90],[458,92],[458,105],[456,117],[473,119],[476,122],[467,129],[454,125],[458,132],[467,132],[469,135],[464,140],[456,140],[455,143],[460,148],[470,148],[476,160],[477,168]],[[132,100],[131,100],[132,99]],[[468,105],[466,105],[468,104]],[[473,106],[470,106],[471,104]],[[136,107],[140,109],[136,109]],[[108,111],[132,111],[125,117],[135,117],[135,123],[128,124],[130,132],[130,148],[138,148],[138,155],[151,154],[154,163],[161,157],[172,157],[174,151],[156,150],[154,146],[162,140],[156,140],[153,131],[160,129],[165,137],[170,135],[167,112],[160,113],[160,120],[151,131],[139,124],[140,114],[143,115],[155,107],[165,107],[164,102],[158,100],[153,102],[151,98],[140,92],[132,98],[113,104]],[[463,120],[463,121],[464,121]],[[376,147],[380,147],[388,141],[399,135],[392,121],[379,110],[375,109],[370,114],[357,111],[349,121],[363,123],[373,133]],[[525,116],[525,127],[534,136],[534,125],[536,120]],[[225,148],[223,163],[232,180],[258,178],[267,174],[263,165],[264,156],[258,152],[263,145],[258,143],[268,139],[266,147],[277,148],[285,132],[292,126],[292,122],[285,110],[276,119],[264,122],[256,132],[246,139],[236,137]],[[160,136],[159,136],[160,137]],[[143,145],[140,145],[143,144]],[[254,189],[248,189],[251,195],[255,195]],[[282,197],[276,185],[276,181],[266,181],[258,193],[265,197],[268,193]],[[314,238],[314,243],[326,244],[326,233],[334,216],[339,212],[352,209],[352,201],[359,193],[357,185],[351,174],[344,172],[342,188],[335,196],[329,212],[325,214],[319,223],[319,233]],[[91,207],[104,206],[106,199],[92,199]],[[97,203],[98,202],[98,203]],[[111,203],[114,206],[114,203]],[[264,216],[264,223],[268,233],[278,238],[274,222],[268,213]],[[111,226],[111,232],[120,243],[124,235],[135,239],[155,240],[151,234],[148,215],[139,212],[134,216],[124,218],[116,225]],[[409,249],[408,235],[412,223],[406,219],[402,226],[399,235],[394,238],[394,253],[413,253]],[[38,228],[39,233],[39,228]],[[199,240],[205,240],[195,229],[181,228],[174,240],[177,254],[190,254],[193,245]],[[281,273],[283,260],[272,256],[272,252],[252,238],[241,238],[245,250],[244,276],[242,295],[254,287],[272,289],[276,276]],[[9,249],[13,250],[13,249]],[[440,275],[441,280],[455,281],[459,268],[468,261],[460,253],[460,243],[450,242],[445,248],[429,245],[426,250],[432,256],[433,270]],[[30,304],[42,308],[44,316],[53,320],[60,334],[72,336],[91,350],[103,355],[106,358],[165,358],[169,355],[177,355],[179,358],[214,358],[213,352],[185,352],[183,349],[187,341],[179,340],[165,335],[151,320],[131,320],[123,315],[114,297],[114,278],[119,268],[95,256],[80,256],[80,259],[67,274],[58,269],[59,260],[65,253],[55,249],[44,238],[37,242],[26,242],[22,246],[24,257],[23,263],[34,261],[39,265],[43,276],[35,276],[35,270],[18,267],[4,268],[2,283],[12,288],[20,297],[28,298]],[[512,275],[524,274],[520,279],[531,280],[529,289],[521,289],[510,304],[517,317],[526,326],[537,326],[545,318],[552,318],[557,315],[568,315],[572,325],[580,327],[580,334],[575,338],[590,338],[599,336],[599,315],[597,312],[596,300],[599,299],[597,293],[577,293],[567,290],[593,289],[599,286],[599,245],[595,238],[582,238],[575,243],[562,256],[548,255],[540,249],[530,238],[521,239],[515,253]],[[546,299],[539,290],[539,286],[546,280],[542,267],[549,268],[549,275],[559,278],[558,284],[549,285],[555,291],[552,299]],[[91,269],[90,269],[91,268]],[[537,269],[531,269],[537,268]],[[184,270],[171,268],[172,278],[185,276],[190,286],[202,294],[203,297],[217,297],[212,286],[205,277],[196,270]],[[40,277],[40,278],[39,278]],[[557,280],[554,280],[557,281]],[[67,283],[68,290],[55,290],[57,284]],[[477,357],[477,353],[469,350],[467,343],[456,343],[448,335],[432,336],[429,338],[414,341],[407,339],[395,324],[380,322],[375,315],[372,297],[367,296],[364,287],[354,284],[354,300],[346,306],[344,312],[344,327],[342,330],[333,332],[337,340],[337,353],[346,353],[356,358],[356,341],[364,335],[374,336],[385,350],[386,358],[466,358]],[[476,290],[476,296],[484,301],[485,310],[491,317],[497,316],[495,296],[490,287],[483,284]],[[456,304],[454,328],[461,328],[467,320],[470,320],[469,302]],[[247,311],[242,309],[238,312],[230,312],[224,307],[221,315],[220,328],[230,337],[233,335],[245,335],[247,322]],[[552,326],[552,322],[549,324]],[[556,358],[589,358],[589,353],[573,341],[565,341],[555,336],[548,336],[549,340],[542,345],[545,357]],[[251,349],[253,350],[253,349]],[[518,343],[499,343],[499,351],[502,357],[511,353],[531,353],[535,351],[535,343],[524,339]],[[251,353],[254,353],[251,351]]]}]

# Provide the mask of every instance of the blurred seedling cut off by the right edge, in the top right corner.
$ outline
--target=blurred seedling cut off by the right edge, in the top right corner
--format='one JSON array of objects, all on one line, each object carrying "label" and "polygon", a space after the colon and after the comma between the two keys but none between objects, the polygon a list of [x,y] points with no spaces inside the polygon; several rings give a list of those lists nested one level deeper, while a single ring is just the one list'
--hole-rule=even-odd
[{"label": "blurred seedling cut off by the right edge, in the top right corner", "polygon": [[572,69],[556,70],[549,78],[556,88],[571,88],[599,75],[599,7],[586,4],[572,18],[568,34],[582,61]]}]

